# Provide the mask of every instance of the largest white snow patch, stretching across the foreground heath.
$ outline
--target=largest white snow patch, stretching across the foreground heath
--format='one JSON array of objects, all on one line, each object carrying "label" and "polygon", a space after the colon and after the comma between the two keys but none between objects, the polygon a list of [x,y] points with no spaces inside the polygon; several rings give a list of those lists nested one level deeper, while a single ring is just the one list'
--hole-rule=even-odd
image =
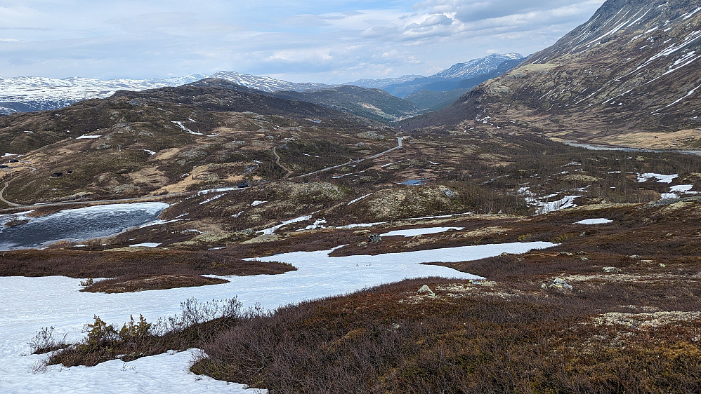
[{"label": "largest white snow patch, stretching across the foreground heath", "polygon": [[[244,306],[276,308],[306,299],[346,294],[405,278],[443,276],[477,278],[428,261],[465,261],[551,247],[544,242],[450,247],[377,256],[329,257],[330,250],[291,252],[266,257],[297,267],[282,275],[227,277],[230,283],[126,294],[79,292],[80,279],[0,278],[0,393],[255,393],[189,372],[190,351],[166,353],[132,362],[113,360],[97,367],[49,367],[33,374],[46,355],[30,355],[27,344],[41,327],[56,327],[69,339],[83,336],[93,315],[121,326],[129,315],[148,321],[178,313],[181,301],[237,296]],[[417,289],[418,290],[418,289]]]}]

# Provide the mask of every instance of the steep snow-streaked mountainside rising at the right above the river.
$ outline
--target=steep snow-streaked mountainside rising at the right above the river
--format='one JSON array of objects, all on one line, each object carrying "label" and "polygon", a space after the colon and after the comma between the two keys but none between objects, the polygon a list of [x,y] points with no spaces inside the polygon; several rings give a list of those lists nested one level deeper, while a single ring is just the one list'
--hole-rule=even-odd
[{"label": "steep snow-streaked mountainside rising at the right above the river", "polygon": [[407,127],[491,125],[634,147],[658,146],[664,132],[667,147],[695,147],[700,59],[696,1],[608,0],[555,45]]}]

